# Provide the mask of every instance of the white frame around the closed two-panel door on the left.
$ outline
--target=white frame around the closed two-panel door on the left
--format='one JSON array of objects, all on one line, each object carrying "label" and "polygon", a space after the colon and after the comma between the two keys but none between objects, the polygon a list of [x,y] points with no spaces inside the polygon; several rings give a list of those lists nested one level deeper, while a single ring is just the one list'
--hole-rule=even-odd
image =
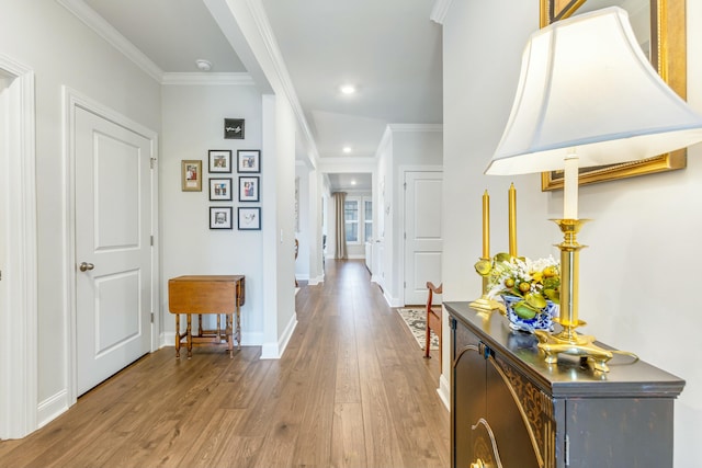
[{"label": "white frame around the closed two-panel door on the left", "polygon": [[70,89],[61,87],[64,103],[64,168],[66,187],[66,218],[65,218],[65,256],[64,266],[66,272],[66,383],[68,407],[76,403],[77,396],[77,269],[76,269],[76,110],[78,107],[93,113],[115,125],[134,132],[151,142],[151,346],[150,351],[157,351],[160,346],[160,289],[159,289],[159,231],[158,231],[158,134],[150,128],[138,124],[121,113],[106,107],[105,105]]}]

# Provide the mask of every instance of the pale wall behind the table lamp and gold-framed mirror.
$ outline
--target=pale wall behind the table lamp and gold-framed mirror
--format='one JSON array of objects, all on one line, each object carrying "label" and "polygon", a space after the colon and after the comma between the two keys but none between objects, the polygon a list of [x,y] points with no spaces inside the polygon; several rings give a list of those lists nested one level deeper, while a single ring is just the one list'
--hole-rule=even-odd
[{"label": "pale wall behind the table lamp and gold-framed mirror", "polygon": [[[508,11],[509,14],[505,14]],[[491,198],[491,250],[507,250],[507,190],[518,191],[518,251],[558,252],[563,193],[541,192],[539,174],[486,176],[509,115],[521,53],[539,27],[539,2],[454,1],[444,20],[444,300],[479,296],[480,196]],[[702,111],[702,0],[688,0],[688,101]],[[676,402],[675,466],[699,466],[702,368],[691,292],[699,287],[702,147],[681,171],[580,189],[578,240],[584,332],[687,380]],[[473,201],[473,202],[471,202]],[[448,347],[448,346],[445,346]],[[444,358],[444,375],[449,359]]]}]

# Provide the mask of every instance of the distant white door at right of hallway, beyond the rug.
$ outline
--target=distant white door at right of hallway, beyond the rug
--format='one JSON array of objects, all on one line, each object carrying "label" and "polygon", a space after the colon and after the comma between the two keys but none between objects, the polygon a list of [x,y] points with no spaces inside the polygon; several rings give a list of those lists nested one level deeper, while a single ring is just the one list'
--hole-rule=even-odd
[{"label": "distant white door at right of hallway, beyond the rug", "polygon": [[405,173],[405,305],[426,304],[427,282],[441,283],[442,184],[441,172]]}]

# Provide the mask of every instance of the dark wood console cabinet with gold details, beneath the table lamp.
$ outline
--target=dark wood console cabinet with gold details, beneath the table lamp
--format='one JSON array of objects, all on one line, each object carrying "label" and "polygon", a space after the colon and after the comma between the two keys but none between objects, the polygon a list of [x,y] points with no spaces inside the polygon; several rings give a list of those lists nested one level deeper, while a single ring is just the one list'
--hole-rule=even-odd
[{"label": "dark wood console cabinet with gold details, beneath the table lamp", "polygon": [[571,356],[550,365],[536,336],[511,331],[499,312],[444,306],[452,466],[672,467],[673,402],[684,380],[622,355],[609,373]]}]

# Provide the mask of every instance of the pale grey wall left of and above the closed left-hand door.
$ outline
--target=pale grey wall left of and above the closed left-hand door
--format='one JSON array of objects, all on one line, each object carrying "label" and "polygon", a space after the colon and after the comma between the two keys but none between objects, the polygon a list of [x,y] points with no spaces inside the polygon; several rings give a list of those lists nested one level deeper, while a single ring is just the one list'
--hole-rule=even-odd
[{"label": "pale grey wall left of and above the closed left-hand door", "polygon": [[[160,130],[160,87],[55,1],[0,1],[0,53],[35,72],[39,423],[67,403],[61,87]],[[42,412],[50,407],[52,414]]]}]

